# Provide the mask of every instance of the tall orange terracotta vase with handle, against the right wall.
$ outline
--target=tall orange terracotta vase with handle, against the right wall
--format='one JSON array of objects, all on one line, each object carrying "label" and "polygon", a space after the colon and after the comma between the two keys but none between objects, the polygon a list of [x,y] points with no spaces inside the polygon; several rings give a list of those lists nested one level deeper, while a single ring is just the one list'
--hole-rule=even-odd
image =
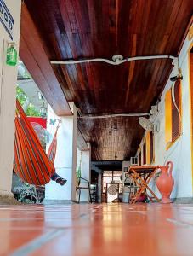
[{"label": "tall orange terracotta vase with handle, against the right wall", "polygon": [[161,175],[156,180],[156,186],[162,195],[162,203],[171,203],[170,194],[173,191],[174,180],[172,177],[173,162],[168,161],[166,166],[160,166]]}]

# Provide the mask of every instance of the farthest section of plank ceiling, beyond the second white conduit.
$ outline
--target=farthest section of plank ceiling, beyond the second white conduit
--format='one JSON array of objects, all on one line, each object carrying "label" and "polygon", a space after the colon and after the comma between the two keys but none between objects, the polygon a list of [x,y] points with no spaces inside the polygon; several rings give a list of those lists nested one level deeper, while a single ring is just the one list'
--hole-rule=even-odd
[{"label": "farthest section of plank ceiling, beyond the second white conduit", "polygon": [[139,126],[138,118],[112,118],[78,120],[78,126],[83,131],[86,141],[92,144],[92,159],[123,160],[136,153],[144,129]]}]

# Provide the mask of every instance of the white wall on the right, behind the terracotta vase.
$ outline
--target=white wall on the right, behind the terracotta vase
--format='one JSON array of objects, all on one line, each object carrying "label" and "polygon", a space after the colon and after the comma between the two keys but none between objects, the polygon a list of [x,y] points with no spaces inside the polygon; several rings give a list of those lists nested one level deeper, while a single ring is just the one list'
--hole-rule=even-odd
[{"label": "white wall on the right, behind the terracotta vase", "polygon": [[[160,131],[155,133],[155,165],[165,165],[167,160],[173,161],[173,178],[175,186],[172,192],[172,198],[192,196],[192,164],[190,148],[190,67],[189,50],[190,41],[186,38],[183,48],[179,54],[179,67],[182,69],[182,130],[183,133],[179,139],[167,150],[165,143],[165,94],[172,86],[170,80],[167,81],[163,90],[161,102],[158,105],[159,113],[156,116],[155,123],[160,122]],[[177,73],[173,70],[171,76]],[[153,188],[157,195],[155,182]]]}]

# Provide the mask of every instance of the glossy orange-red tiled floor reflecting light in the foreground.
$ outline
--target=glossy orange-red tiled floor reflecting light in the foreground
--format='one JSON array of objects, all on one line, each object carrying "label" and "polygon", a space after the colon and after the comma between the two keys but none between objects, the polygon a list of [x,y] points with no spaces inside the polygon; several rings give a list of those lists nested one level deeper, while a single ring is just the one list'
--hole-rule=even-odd
[{"label": "glossy orange-red tiled floor reflecting light in the foreground", "polygon": [[193,255],[193,205],[1,206],[0,255]]}]

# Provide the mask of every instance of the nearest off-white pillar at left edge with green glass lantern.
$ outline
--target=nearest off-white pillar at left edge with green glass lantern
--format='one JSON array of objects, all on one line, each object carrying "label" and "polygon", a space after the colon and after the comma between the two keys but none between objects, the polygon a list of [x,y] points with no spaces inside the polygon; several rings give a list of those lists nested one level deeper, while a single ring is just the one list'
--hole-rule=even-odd
[{"label": "nearest off-white pillar at left edge with green glass lantern", "polygon": [[[19,51],[21,3],[20,0],[4,0],[4,3],[14,19],[13,42],[15,43],[17,51]],[[6,64],[6,49],[7,44],[10,42],[12,42],[12,39],[0,22],[0,199],[3,199],[3,201],[6,198],[8,200],[13,198],[13,195],[11,194],[11,183],[14,157],[14,116],[17,66],[11,67]]]}]

